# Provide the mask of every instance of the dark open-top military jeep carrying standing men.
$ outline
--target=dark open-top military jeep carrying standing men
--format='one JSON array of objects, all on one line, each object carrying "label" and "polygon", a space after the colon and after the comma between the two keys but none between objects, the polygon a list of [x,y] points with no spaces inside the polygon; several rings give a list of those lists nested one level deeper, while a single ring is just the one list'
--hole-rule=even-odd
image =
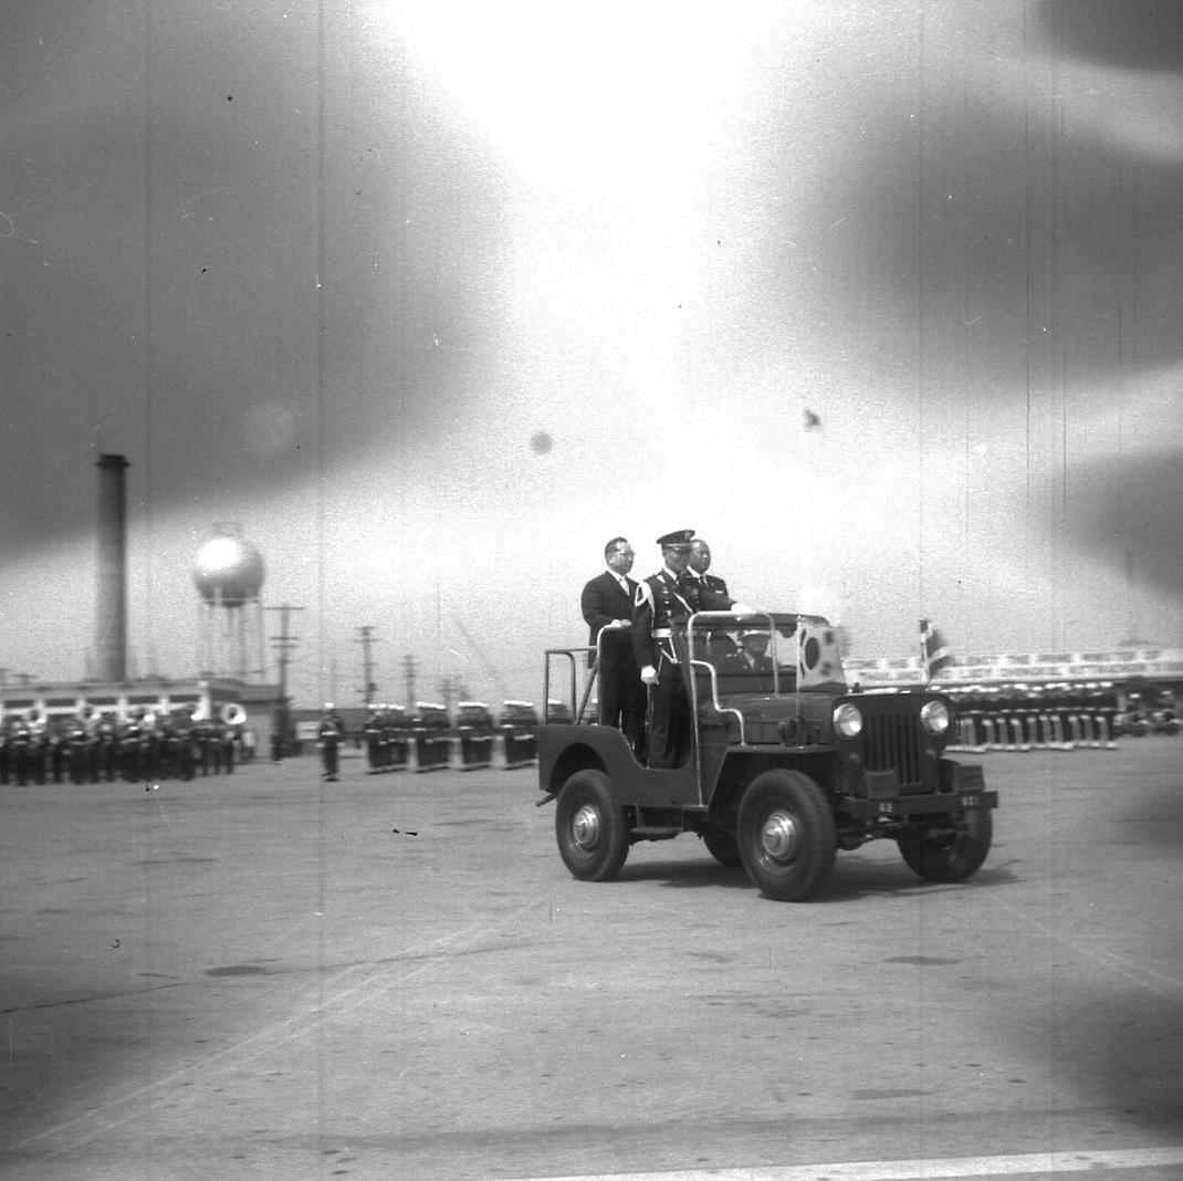
[{"label": "dark open-top military jeep carrying standing men", "polygon": [[819,615],[700,612],[672,640],[691,746],[662,769],[588,716],[599,653],[578,702],[588,650],[545,653],[545,699],[565,692],[571,719],[538,729],[538,806],[556,801],[558,852],[576,878],[607,880],[634,843],[687,832],[783,902],[809,898],[838,850],[871,840],[894,840],[927,882],[982,866],[997,793],[980,766],[944,757],[956,730],[943,695],[848,689],[835,630]]}]

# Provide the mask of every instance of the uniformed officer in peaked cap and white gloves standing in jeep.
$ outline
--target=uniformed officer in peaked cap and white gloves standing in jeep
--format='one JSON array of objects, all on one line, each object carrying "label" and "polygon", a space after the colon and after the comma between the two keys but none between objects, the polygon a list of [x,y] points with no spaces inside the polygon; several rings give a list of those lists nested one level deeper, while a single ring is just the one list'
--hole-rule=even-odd
[{"label": "uniformed officer in peaked cap and white gloves standing in jeep", "polygon": [[678,529],[658,538],[662,568],[641,582],[633,607],[633,651],[649,691],[649,767],[677,767],[690,754],[690,702],[673,646],[673,625],[685,624],[697,611],[748,613],[724,594],[689,585],[693,536],[693,529]]}]

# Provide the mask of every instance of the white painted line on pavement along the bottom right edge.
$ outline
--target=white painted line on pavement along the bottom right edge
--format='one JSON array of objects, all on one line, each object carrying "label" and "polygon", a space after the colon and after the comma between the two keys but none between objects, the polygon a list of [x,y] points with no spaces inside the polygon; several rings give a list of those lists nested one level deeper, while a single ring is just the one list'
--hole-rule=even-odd
[{"label": "white painted line on pavement along the bottom right edge", "polygon": [[951,1177],[1009,1177],[1024,1174],[1099,1173],[1183,1166],[1183,1147],[1127,1148],[1020,1156],[950,1156],[917,1161],[842,1161],[743,1169],[672,1169],[660,1173],[581,1173],[518,1177],[515,1181],[948,1181]]}]

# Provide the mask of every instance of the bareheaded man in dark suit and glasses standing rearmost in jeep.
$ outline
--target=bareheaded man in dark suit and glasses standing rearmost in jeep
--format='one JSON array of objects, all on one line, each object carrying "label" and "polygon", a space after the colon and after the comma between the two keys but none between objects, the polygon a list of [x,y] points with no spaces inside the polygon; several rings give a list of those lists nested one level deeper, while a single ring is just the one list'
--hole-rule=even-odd
[{"label": "bareheaded man in dark suit and glasses standing rearmost in jeep", "polygon": [[636,583],[628,572],[634,556],[625,537],[613,537],[603,548],[606,569],[583,587],[580,607],[589,628],[588,644],[594,647],[600,637],[600,722],[623,730],[639,750],[645,686],[629,635]]}]

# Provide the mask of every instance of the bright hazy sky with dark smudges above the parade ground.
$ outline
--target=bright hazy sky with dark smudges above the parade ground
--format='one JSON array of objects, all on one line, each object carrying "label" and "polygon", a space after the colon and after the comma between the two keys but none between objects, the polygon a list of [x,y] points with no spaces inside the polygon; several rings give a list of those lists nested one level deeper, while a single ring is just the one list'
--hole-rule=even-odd
[{"label": "bright hazy sky with dark smudges above the parade ground", "polygon": [[537,698],[675,528],[858,656],[1183,643],[1179,0],[5,8],[9,676],[91,659],[102,452],[135,666],[238,522],[305,704],[361,626]]}]

